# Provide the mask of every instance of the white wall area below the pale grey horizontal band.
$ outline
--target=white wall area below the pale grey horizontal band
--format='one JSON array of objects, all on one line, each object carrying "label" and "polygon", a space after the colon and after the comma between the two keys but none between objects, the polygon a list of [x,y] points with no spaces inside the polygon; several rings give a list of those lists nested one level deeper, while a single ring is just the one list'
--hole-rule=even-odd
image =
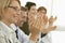
[{"label": "white wall area below the pale grey horizontal band", "polygon": [[52,31],[51,43],[65,43],[65,31]]}]

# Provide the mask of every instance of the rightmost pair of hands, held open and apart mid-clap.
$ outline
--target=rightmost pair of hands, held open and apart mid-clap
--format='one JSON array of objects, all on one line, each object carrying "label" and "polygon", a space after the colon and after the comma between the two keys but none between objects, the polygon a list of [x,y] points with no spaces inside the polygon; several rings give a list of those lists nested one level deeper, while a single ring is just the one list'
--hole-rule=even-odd
[{"label": "rightmost pair of hands, held open and apart mid-clap", "polygon": [[56,28],[56,26],[53,26],[53,23],[56,20],[56,18],[57,17],[54,17],[53,18],[53,16],[51,16],[50,18],[49,18],[49,20],[48,20],[48,27],[47,26],[42,26],[41,27],[41,31],[43,32],[43,33],[48,33],[49,31],[52,31],[52,30],[55,30],[55,28]]}]

